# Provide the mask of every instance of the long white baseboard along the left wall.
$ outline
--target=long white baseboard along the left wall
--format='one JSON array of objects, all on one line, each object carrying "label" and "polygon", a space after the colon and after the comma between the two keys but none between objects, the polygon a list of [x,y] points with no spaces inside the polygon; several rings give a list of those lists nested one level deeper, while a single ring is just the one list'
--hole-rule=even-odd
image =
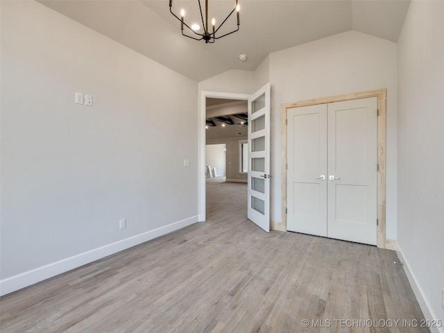
[{"label": "long white baseboard along the left wall", "polygon": [[80,253],[78,255],[74,255],[73,257],[62,259],[58,262],[53,262],[51,264],[35,268],[31,271],[3,279],[0,281],[0,296],[6,295],[7,293],[12,293],[12,291],[17,291],[24,287],[31,286],[32,284],[52,278],[53,276],[61,273],[71,271],[71,269],[78,268],[108,255],[117,253],[121,250],[126,250],[127,248],[142,244],[145,241],[151,241],[151,239],[155,239],[163,236],[164,234],[168,234],[169,232],[185,228],[188,225],[196,223],[197,221],[197,215],[191,216],[182,221],[164,225],[163,227],[150,230],[142,234],[137,234],[133,237],[128,237],[126,239],[122,239],[121,241],[116,241],[112,244],[101,246],[100,248],[95,248],[85,253]]}]

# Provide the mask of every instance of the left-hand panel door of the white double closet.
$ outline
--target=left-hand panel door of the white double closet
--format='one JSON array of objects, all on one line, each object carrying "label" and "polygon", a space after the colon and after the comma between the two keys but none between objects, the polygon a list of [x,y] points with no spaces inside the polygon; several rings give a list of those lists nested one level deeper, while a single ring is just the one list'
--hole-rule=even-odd
[{"label": "left-hand panel door of the white double closet", "polygon": [[287,229],[327,237],[327,104],[287,111]]}]

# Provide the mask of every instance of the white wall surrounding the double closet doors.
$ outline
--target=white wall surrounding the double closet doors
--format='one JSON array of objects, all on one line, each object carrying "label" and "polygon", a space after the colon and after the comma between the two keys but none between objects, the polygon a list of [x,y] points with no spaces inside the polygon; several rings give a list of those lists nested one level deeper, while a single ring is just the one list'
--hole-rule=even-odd
[{"label": "white wall surrounding the double closet doors", "polygon": [[280,105],[387,88],[386,237],[396,239],[396,44],[348,31],[270,54],[271,220],[281,221]]}]

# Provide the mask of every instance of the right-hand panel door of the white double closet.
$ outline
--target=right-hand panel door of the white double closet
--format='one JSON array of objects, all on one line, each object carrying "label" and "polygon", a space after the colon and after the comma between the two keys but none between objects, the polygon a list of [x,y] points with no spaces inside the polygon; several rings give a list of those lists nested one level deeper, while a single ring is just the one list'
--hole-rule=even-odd
[{"label": "right-hand panel door of the white double closet", "polygon": [[328,237],[377,243],[377,97],[328,104]]}]

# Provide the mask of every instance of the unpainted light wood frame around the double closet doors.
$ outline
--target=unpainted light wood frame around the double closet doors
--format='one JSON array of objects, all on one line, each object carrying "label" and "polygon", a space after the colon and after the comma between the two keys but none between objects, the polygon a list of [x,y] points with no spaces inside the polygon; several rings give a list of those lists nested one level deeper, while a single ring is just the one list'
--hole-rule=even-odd
[{"label": "unpainted light wood frame around the double closet doors", "polygon": [[350,101],[377,97],[377,247],[386,248],[386,89],[368,90],[336,96],[321,97],[281,105],[281,147],[282,147],[282,217],[280,230],[287,231],[287,110],[300,106]]}]

